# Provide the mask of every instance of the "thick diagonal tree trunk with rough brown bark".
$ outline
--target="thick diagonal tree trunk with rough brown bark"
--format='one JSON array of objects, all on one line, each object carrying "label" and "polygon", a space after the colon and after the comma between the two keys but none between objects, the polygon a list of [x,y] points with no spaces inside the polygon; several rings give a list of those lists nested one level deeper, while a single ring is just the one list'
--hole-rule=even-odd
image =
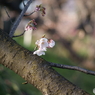
[{"label": "thick diagonal tree trunk with rough brown bark", "polygon": [[1,31],[0,64],[33,84],[43,95],[90,95],[58,74],[47,61],[33,55]]}]

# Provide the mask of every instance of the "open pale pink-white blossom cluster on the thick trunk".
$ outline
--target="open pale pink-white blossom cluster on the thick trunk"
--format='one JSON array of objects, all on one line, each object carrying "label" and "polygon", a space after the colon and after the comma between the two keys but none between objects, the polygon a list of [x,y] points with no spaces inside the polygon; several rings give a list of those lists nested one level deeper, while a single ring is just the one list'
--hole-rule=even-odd
[{"label": "open pale pink-white blossom cluster on the thick trunk", "polygon": [[33,54],[41,56],[45,55],[45,51],[47,51],[47,48],[53,48],[55,46],[55,41],[42,37],[41,39],[37,40],[35,44],[37,45],[38,50],[34,51]]}]

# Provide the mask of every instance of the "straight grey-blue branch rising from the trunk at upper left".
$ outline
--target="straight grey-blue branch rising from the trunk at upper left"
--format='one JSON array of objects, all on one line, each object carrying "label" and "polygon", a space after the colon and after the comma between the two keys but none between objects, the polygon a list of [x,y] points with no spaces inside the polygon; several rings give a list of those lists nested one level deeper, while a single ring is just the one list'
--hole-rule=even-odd
[{"label": "straight grey-blue branch rising from the trunk at upper left", "polygon": [[29,5],[32,3],[33,0],[29,0],[26,4],[26,6],[24,7],[24,9],[22,10],[22,12],[20,13],[19,17],[17,18],[17,20],[15,21],[10,33],[9,33],[9,36],[12,37],[16,28],[18,27],[24,13],[26,12],[26,10],[28,9]]}]

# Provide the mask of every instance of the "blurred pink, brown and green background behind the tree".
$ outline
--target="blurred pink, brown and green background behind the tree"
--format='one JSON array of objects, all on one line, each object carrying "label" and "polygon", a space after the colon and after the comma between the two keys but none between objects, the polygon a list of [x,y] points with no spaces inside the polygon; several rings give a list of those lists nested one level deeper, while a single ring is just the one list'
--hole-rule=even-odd
[{"label": "blurred pink, brown and green background behind the tree", "polygon": [[[4,6],[14,22],[24,8],[22,1],[0,0],[0,28],[5,32],[9,33],[12,23]],[[26,2],[27,0],[24,1],[25,4]],[[45,34],[46,38],[56,42],[53,49],[48,49],[46,55],[41,56],[45,60],[95,71],[95,0],[34,0],[25,14],[33,12],[39,4],[46,8],[46,15],[37,12],[24,16],[14,35],[23,33],[25,25],[31,19],[37,22],[37,29],[31,31],[28,37],[23,35],[13,39],[34,51],[35,41]],[[54,69],[91,95],[95,94],[95,76]],[[42,95],[35,87],[23,85],[23,82],[25,81],[20,76],[0,65],[0,95]]]}]

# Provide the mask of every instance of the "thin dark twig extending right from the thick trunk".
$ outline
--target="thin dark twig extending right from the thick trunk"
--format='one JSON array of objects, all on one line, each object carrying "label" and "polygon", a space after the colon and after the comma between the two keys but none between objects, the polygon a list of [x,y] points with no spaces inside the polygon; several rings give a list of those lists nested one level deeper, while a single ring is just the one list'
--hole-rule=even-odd
[{"label": "thin dark twig extending right from the thick trunk", "polygon": [[52,67],[57,67],[57,68],[62,68],[62,69],[70,69],[70,70],[76,70],[76,71],[80,71],[80,72],[83,72],[83,73],[86,73],[86,74],[90,74],[90,75],[95,75],[95,72],[94,71],[90,71],[90,70],[87,70],[87,69],[84,69],[84,68],[80,68],[80,67],[77,67],[77,66],[69,66],[69,65],[63,65],[63,64],[56,64],[56,63],[50,63],[50,66]]}]

